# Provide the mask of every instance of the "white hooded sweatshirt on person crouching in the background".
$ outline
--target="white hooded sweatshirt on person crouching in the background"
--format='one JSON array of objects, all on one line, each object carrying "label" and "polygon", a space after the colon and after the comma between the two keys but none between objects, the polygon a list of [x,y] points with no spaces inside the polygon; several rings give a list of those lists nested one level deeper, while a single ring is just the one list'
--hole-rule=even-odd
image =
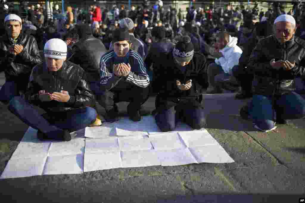
[{"label": "white hooded sweatshirt on person crouching in the background", "polygon": [[229,37],[229,43],[220,50],[223,57],[215,59],[215,63],[221,65],[225,73],[232,75],[232,68],[238,65],[242,50],[237,44],[237,37]]}]

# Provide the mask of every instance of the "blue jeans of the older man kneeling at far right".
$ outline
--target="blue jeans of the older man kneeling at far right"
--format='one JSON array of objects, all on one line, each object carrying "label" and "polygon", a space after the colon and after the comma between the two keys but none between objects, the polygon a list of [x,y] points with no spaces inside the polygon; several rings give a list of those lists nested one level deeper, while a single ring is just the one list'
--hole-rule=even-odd
[{"label": "blue jeans of the older man kneeling at far right", "polygon": [[274,127],[277,117],[282,119],[299,119],[305,117],[305,100],[297,93],[290,92],[275,97],[274,107],[271,96],[253,95],[249,105],[249,114],[262,130]]}]

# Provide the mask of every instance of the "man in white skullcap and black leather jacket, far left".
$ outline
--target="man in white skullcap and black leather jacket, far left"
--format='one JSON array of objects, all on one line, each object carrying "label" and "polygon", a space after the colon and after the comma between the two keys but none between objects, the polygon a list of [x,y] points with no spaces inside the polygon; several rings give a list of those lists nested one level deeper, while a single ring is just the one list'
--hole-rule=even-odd
[{"label": "man in white skullcap and black leather jacket, far left", "polygon": [[35,38],[21,33],[21,18],[10,14],[4,21],[6,34],[0,38],[0,71],[5,73],[5,84],[0,90],[0,101],[8,104],[26,90],[32,68],[41,63],[41,58]]}]

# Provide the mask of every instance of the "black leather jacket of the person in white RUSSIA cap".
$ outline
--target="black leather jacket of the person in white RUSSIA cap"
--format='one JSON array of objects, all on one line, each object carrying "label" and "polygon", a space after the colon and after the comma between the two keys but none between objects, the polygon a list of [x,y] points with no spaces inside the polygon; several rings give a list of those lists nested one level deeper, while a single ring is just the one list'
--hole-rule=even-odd
[{"label": "black leather jacket of the person in white RUSSIA cap", "polygon": [[[62,112],[89,106],[94,95],[88,82],[84,80],[85,74],[80,66],[69,61],[65,61],[58,71],[49,71],[45,63],[41,63],[33,68],[25,99],[47,112]],[[47,93],[65,90],[69,92],[70,100],[66,103],[55,100],[41,102],[38,98],[40,90]]]}]

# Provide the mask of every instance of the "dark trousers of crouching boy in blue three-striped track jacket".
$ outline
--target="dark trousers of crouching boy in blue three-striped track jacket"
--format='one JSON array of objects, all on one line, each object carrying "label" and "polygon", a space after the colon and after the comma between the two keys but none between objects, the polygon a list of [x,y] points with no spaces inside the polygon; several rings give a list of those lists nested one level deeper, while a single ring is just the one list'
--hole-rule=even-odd
[{"label": "dark trousers of crouching boy in blue three-striped track jacket", "polygon": [[97,95],[97,101],[105,108],[106,112],[116,108],[116,103],[130,102],[128,109],[138,111],[149,98],[149,86],[142,88],[133,84],[127,84],[125,89],[110,89]]}]

